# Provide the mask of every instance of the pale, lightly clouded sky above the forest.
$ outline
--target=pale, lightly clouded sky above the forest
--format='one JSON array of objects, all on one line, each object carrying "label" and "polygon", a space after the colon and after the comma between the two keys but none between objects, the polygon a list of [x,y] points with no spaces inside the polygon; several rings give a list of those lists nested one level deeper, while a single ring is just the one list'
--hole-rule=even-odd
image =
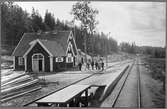
[{"label": "pale, lightly clouded sky above the forest", "polygon": [[[32,7],[44,17],[46,10],[55,18],[71,21],[72,5],[76,1],[15,2],[28,13]],[[138,46],[166,45],[166,4],[164,2],[94,1],[91,6],[99,11],[97,32],[104,32],[120,42],[135,42]],[[77,23],[76,23],[77,24]],[[109,34],[110,33],[110,34]]]}]

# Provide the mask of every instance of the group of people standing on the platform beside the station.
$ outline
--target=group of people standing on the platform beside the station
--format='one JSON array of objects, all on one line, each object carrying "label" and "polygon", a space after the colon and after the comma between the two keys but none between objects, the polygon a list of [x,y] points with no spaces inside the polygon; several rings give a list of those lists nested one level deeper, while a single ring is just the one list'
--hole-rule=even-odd
[{"label": "group of people standing on the platform beside the station", "polygon": [[85,64],[85,70],[88,69],[90,70],[92,68],[92,70],[96,69],[96,70],[104,70],[104,62],[103,59],[100,58],[99,60],[91,60],[88,59],[87,61],[83,62],[79,62],[78,66],[79,66],[79,70],[81,71],[83,64]]}]

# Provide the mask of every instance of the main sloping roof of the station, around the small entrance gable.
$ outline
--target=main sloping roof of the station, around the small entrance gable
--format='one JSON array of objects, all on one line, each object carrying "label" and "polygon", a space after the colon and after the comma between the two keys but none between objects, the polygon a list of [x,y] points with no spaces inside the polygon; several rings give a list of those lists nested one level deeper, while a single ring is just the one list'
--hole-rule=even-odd
[{"label": "main sloping roof of the station, around the small entrance gable", "polygon": [[13,51],[13,56],[23,56],[31,47],[30,42],[39,39],[47,49],[55,56],[65,56],[67,40],[71,31],[60,31],[57,33],[25,33]]}]

